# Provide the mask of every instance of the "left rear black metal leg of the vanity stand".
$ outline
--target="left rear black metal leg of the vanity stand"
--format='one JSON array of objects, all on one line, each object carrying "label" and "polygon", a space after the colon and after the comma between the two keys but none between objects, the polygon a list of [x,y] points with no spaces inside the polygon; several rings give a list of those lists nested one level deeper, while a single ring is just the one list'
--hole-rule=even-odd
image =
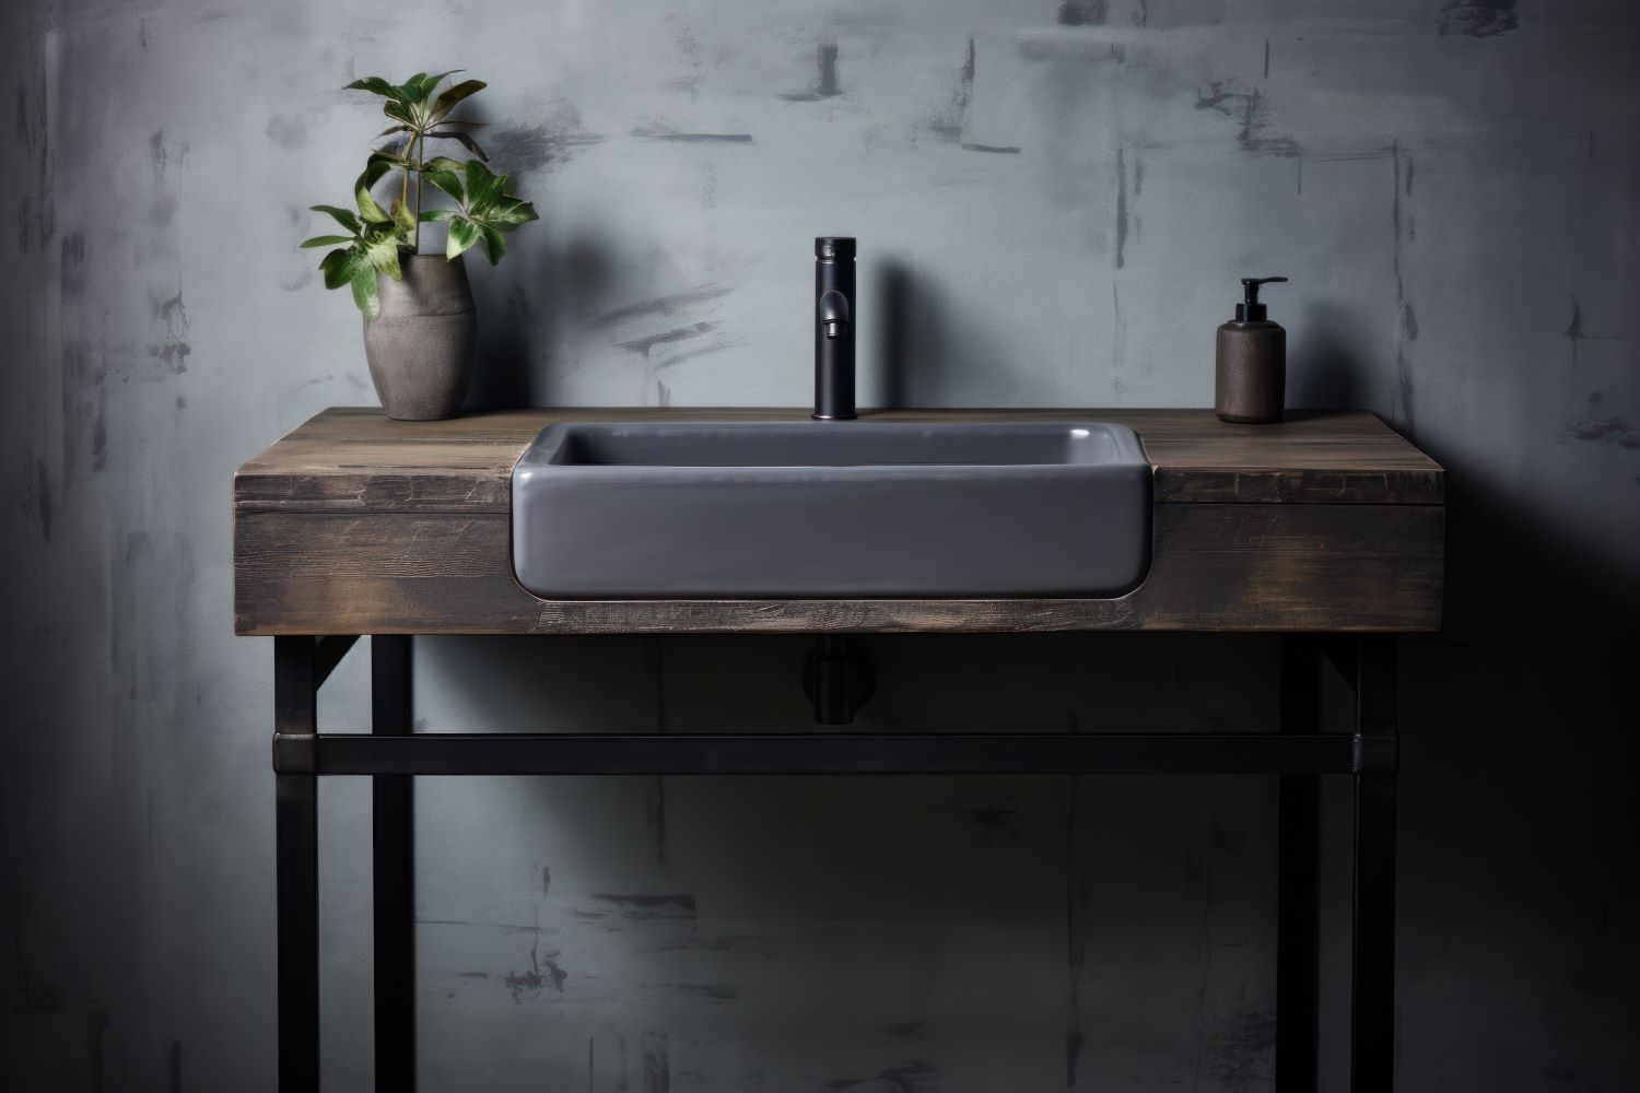
[{"label": "left rear black metal leg of the vanity stand", "polygon": [[[410,637],[371,637],[371,732],[408,736]],[[371,778],[374,806],[376,1088],[415,1091],[415,857],[410,775]]]}]

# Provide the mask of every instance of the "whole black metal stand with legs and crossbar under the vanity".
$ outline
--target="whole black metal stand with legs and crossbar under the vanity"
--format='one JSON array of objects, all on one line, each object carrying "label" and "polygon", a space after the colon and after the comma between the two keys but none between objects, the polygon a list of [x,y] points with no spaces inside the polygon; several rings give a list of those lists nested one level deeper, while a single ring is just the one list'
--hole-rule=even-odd
[{"label": "whole black metal stand with legs and crossbar under the vanity", "polygon": [[[376,1088],[415,1090],[412,775],[1276,773],[1281,878],[1276,1083],[1317,1082],[1317,775],[1355,791],[1350,1088],[1394,1080],[1396,639],[1282,639],[1276,732],[413,734],[410,637],[371,639],[372,731],[318,734],[318,688],[353,637],[274,639],[279,854],[279,1088],[318,1090],[318,777],[374,787]],[[1323,732],[1322,657],[1355,692]]]}]

